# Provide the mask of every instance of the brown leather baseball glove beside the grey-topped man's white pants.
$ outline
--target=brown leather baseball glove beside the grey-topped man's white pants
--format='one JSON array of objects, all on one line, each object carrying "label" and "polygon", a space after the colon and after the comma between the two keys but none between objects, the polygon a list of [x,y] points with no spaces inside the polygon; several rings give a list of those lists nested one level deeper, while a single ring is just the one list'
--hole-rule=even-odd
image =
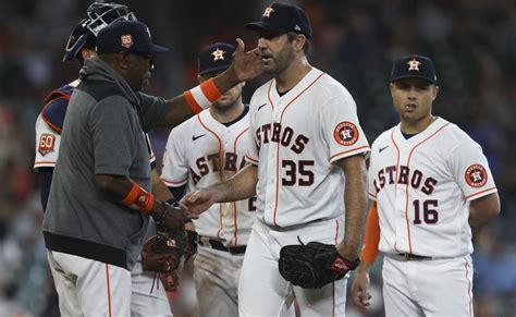
[{"label": "brown leather baseball glove beside the grey-topped man's white pants", "polygon": [[158,231],[149,237],[142,249],[144,271],[153,271],[163,282],[165,291],[175,291],[179,285],[176,270],[188,243],[184,231],[174,235]]}]

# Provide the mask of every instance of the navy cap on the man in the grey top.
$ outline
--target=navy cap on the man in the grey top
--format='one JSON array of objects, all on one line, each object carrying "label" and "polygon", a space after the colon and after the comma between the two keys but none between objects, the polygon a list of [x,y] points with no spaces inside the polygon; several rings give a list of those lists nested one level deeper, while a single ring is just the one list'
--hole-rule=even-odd
[{"label": "navy cap on the man in the grey top", "polygon": [[152,44],[150,31],[144,23],[121,19],[102,28],[97,36],[97,52],[160,53],[169,49]]}]

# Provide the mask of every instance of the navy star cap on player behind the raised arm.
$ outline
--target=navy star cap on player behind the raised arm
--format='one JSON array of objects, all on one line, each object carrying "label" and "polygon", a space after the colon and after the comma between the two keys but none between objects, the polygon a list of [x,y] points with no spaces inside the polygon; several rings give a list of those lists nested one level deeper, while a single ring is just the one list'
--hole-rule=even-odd
[{"label": "navy star cap on player behind the raised arm", "polygon": [[216,42],[205,47],[198,57],[199,75],[228,70],[235,50],[234,46],[226,42]]}]

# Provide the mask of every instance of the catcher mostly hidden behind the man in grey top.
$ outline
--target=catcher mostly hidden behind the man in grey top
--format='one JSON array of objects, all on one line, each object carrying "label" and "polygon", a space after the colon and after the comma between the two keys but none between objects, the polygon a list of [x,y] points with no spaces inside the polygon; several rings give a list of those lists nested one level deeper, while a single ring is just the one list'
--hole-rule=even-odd
[{"label": "catcher mostly hidden behind the man in grey top", "polygon": [[[81,61],[83,63],[84,60],[96,56],[95,38],[98,31],[119,17],[135,19],[125,5],[118,3],[95,2],[89,5],[86,14],[87,17],[81,21],[69,38],[63,57],[65,62]],[[95,29],[97,33],[93,33],[90,29]],[[78,80],[74,81],[51,92],[45,99],[45,107],[36,121],[36,158],[34,168],[39,176],[44,211],[47,207],[52,173],[58,159],[64,115],[70,96],[78,82]],[[156,157],[152,153],[148,135],[146,135],[146,141],[150,155],[149,163],[152,169],[152,193],[161,200],[169,200],[172,196],[155,171]],[[153,233],[156,233],[156,228],[152,223],[149,225],[147,235]],[[142,270],[140,260],[136,263],[131,271],[131,316],[172,316],[164,288],[162,285],[152,285],[156,282],[161,282],[159,280],[155,281],[152,272],[144,272]]]}]

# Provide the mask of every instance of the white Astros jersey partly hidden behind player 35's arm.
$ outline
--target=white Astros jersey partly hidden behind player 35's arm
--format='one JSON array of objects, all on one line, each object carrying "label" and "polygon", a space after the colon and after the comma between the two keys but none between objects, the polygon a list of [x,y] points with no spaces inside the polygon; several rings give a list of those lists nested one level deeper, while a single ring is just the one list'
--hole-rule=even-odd
[{"label": "white Astros jersey partly hidden behind player 35's arm", "polygon": [[[230,126],[214,120],[209,110],[188,119],[170,133],[161,179],[168,186],[187,184],[187,191],[196,191],[233,176],[246,163],[248,129],[248,113]],[[214,204],[194,220],[197,233],[228,247],[246,245],[255,200]]]}]

